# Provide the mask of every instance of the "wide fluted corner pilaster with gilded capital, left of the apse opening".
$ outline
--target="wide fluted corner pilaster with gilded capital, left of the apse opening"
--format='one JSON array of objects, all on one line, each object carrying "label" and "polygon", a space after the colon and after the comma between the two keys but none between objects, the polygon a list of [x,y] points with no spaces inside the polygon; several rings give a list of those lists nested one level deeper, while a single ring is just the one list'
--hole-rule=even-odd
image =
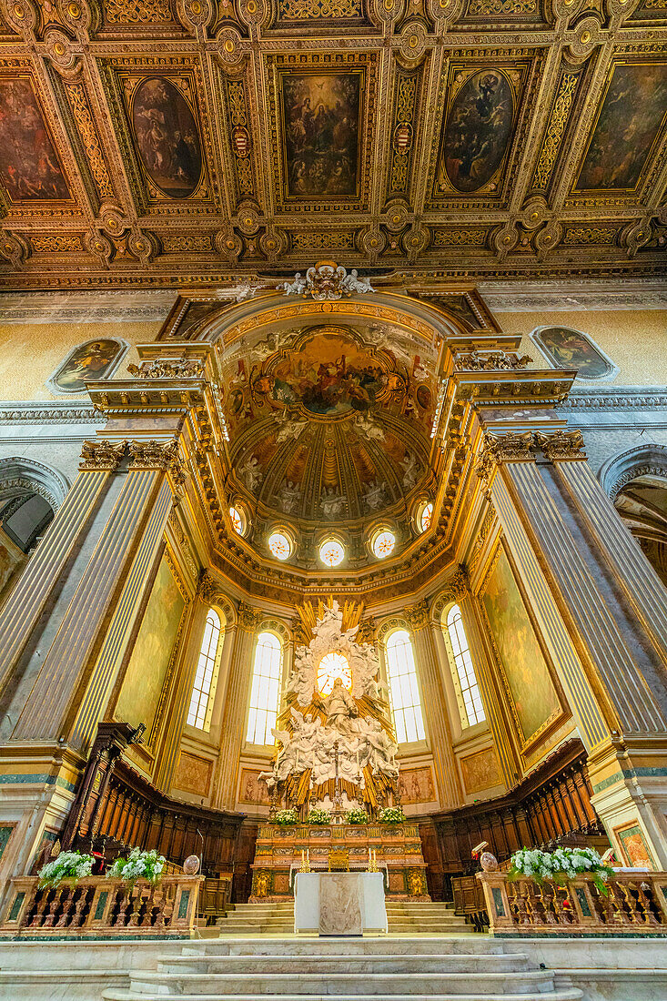
[{"label": "wide fluted corner pilaster with gilded capital, left of the apse opening", "polygon": [[[178,442],[129,445],[130,467],[28,697],[12,741],[84,741],[94,729],[180,485]],[[115,614],[117,613],[117,614]],[[110,628],[105,625],[111,619]],[[101,642],[100,642],[101,641]]]}]

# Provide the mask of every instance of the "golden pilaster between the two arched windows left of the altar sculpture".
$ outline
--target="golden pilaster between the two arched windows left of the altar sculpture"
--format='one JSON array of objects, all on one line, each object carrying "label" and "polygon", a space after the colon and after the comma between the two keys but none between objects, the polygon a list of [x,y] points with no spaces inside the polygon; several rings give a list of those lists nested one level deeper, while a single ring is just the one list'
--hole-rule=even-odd
[{"label": "golden pilaster between the two arched windows left of the altar sculpture", "polygon": [[233,810],[236,804],[238,760],[243,746],[243,727],[247,718],[252,652],[261,614],[247,605],[238,607],[238,623],[231,654],[231,669],[220,728],[220,754],[215,770],[211,806]]}]

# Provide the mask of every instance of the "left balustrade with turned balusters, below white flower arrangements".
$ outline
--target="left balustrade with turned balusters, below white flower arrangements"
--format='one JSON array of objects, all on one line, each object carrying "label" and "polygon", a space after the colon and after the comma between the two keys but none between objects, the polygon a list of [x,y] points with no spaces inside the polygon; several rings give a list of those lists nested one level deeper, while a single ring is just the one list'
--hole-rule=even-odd
[{"label": "left balustrade with turned balusters, below white flower arrangements", "polygon": [[0,921],[3,938],[189,937],[201,876],[165,876],[151,885],[91,876],[56,889],[35,877],[11,880]]}]

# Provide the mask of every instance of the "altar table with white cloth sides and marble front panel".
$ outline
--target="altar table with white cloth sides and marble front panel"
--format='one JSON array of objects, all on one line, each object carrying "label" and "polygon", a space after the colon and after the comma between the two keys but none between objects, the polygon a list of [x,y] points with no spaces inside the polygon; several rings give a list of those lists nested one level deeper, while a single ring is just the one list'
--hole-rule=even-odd
[{"label": "altar table with white cloth sides and marble front panel", "polygon": [[387,932],[382,873],[296,873],[294,932],[379,935]]}]

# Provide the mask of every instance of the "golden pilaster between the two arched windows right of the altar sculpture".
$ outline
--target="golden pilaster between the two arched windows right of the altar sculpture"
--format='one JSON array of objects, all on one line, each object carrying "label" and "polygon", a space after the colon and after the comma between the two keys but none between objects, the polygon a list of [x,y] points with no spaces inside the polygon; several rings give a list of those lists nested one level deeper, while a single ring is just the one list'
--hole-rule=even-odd
[{"label": "golden pilaster between the two arched windows right of the altar sculpture", "polygon": [[424,693],[423,709],[431,738],[441,806],[458,806],[463,803],[463,793],[452,747],[452,731],[429,605],[427,602],[420,602],[406,609],[405,615],[412,627],[415,659]]}]

